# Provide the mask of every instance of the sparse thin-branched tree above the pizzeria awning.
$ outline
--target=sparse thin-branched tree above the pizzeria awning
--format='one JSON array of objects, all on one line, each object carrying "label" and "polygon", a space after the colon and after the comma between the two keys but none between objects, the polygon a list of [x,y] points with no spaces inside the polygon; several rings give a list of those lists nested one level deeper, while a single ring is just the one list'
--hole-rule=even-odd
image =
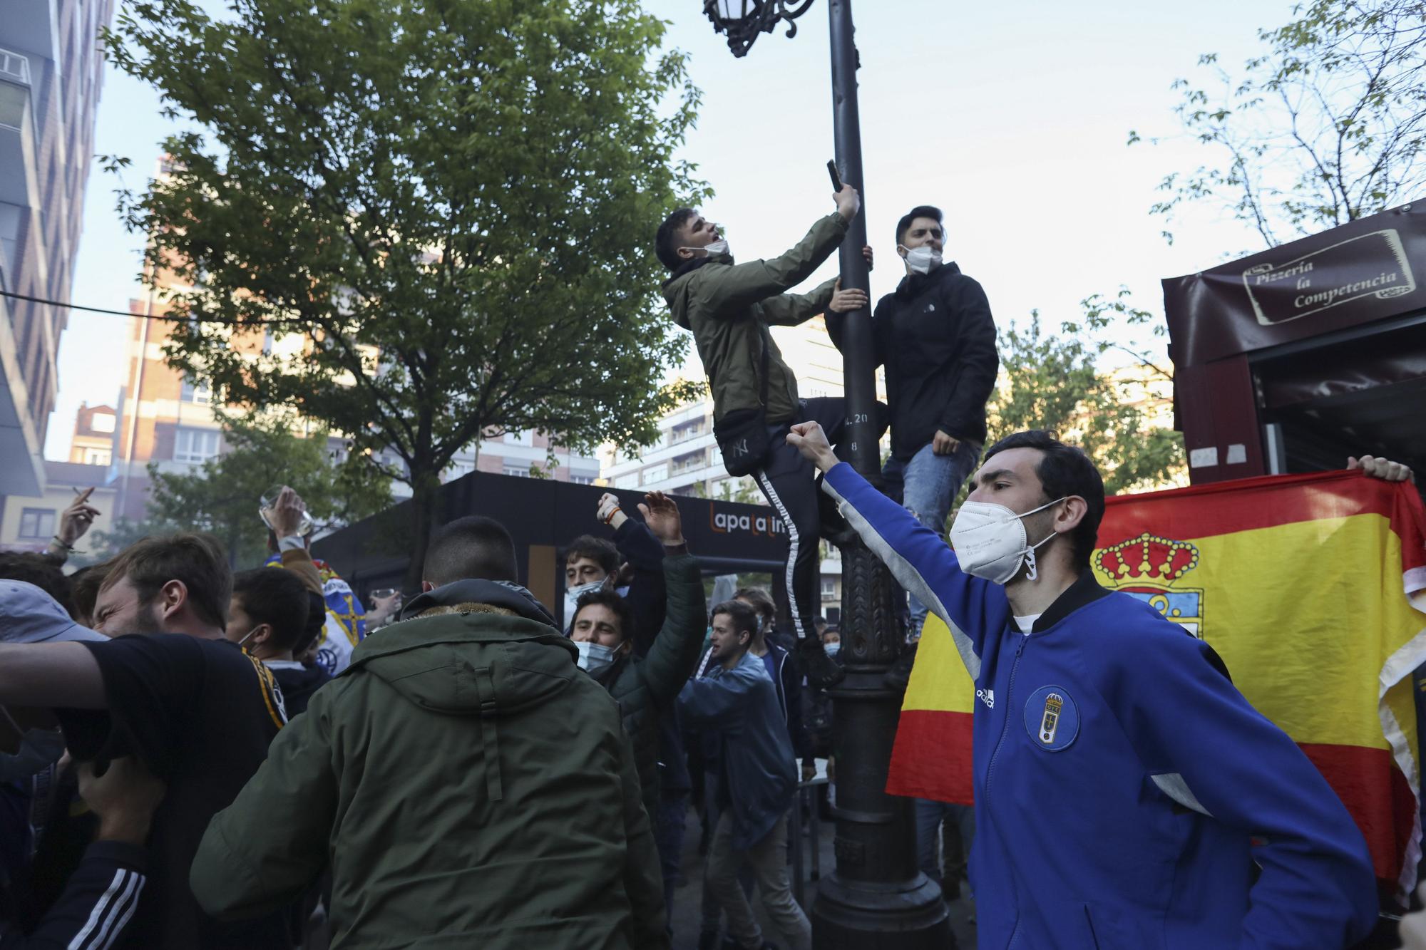
[{"label": "sparse thin-branched tree above the pizzeria awning", "polygon": [[[1241,78],[1199,57],[1218,88],[1174,83],[1175,107],[1218,164],[1174,173],[1154,214],[1222,207],[1268,247],[1420,197],[1426,184],[1426,6],[1312,0],[1259,30],[1268,50]],[[1139,141],[1129,133],[1129,143]],[[1172,241],[1172,235],[1165,231]]]}]

